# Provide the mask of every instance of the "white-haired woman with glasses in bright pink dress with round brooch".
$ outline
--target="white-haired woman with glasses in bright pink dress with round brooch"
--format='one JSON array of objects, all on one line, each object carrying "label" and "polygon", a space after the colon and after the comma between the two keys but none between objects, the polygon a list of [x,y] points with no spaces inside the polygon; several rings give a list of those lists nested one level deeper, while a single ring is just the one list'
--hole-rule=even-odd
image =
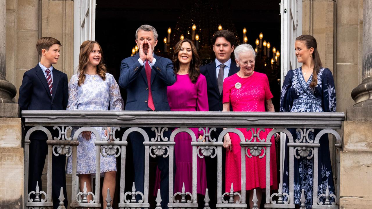
[{"label": "white-haired woman with glasses in bright pink dress with round brooch", "polygon": [[[271,102],[273,95],[270,92],[269,80],[263,73],[254,72],[256,53],[249,44],[237,46],[234,51],[237,66],[240,66],[238,73],[225,78],[223,87],[223,111],[230,111],[230,104],[233,111],[243,112],[265,112],[265,109],[274,112]],[[249,127],[247,127],[249,128]],[[239,128],[246,139],[250,139],[252,133],[246,128]],[[254,129],[252,128],[254,131]],[[259,128],[257,128],[257,131]],[[265,129],[259,132],[260,139],[266,139],[272,129]],[[255,132],[256,134],[256,132]],[[274,135],[279,139],[279,134]],[[270,185],[272,189],[278,188],[276,175],[276,151],[274,136],[271,139],[270,147]],[[253,138],[254,142],[255,139]],[[256,139],[256,142],[259,142]],[[240,138],[237,134],[224,136],[224,147],[226,148],[226,181],[225,190],[230,192],[231,183],[234,192],[241,191],[241,147]],[[262,151],[263,152],[263,151]],[[249,152],[248,152],[249,153]],[[260,154],[262,155],[262,154]],[[259,158],[246,157],[246,190],[250,208],[253,207],[253,189],[257,191],[257,202],[260,205],[262,192],[266,188],[266,156]],[[237,198],[237,196],[235,196]]]}]

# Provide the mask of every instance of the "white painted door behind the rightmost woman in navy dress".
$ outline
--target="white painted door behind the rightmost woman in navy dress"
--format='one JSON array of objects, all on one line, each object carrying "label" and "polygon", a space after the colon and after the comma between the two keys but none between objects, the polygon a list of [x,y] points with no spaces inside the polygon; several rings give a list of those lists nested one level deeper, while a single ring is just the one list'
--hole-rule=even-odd
[{"label": "white painted door behind the rightmost woman in navy dress", "polygon": [[282,56],[280,56],[280,87],[289,70],[300,65],[295,56],[295,40],[302,35],[302,0],[282,0],[280,3],[280,32]]}]

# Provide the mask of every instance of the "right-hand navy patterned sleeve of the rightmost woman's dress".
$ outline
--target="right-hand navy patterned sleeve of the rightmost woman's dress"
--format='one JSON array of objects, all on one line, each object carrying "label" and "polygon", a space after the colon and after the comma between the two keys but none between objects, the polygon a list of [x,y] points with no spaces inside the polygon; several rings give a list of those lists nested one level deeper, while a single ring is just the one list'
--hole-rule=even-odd
[{"label": "right-hand navy patterned sleeve of the rightmost woman's dress", "polygon": [[331,71],[325,68],[322,75],[323,110],[324,112],[336,112],[336,90]]}]

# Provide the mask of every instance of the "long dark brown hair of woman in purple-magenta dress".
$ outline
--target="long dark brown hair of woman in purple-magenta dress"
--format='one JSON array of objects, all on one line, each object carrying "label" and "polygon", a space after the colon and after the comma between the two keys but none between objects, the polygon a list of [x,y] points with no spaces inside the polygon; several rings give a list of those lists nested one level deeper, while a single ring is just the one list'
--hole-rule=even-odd
[{"label": "long dark brown hair of woman in purple-magenta dress", "polygon": [[192,59],[190,63],[190,69],[189,69],[189,77],[192,83],[196,83],[196,80],[198,80],[198,77],[200,75],[199,67],[200,67],[200,57],[198,55],[198,51],[196,51],[196,46],[193,44],[192,41],[189,39],[183,39],[179,41],[176,46],[174,46],[174,52],[173,52],[173,67],[174,67],[174,73],[177,73],[180,70],[180,62],[178,60],[178,52],[181,49],[182,43],[188,42],[191,45],[191,52],[192,52]]}]

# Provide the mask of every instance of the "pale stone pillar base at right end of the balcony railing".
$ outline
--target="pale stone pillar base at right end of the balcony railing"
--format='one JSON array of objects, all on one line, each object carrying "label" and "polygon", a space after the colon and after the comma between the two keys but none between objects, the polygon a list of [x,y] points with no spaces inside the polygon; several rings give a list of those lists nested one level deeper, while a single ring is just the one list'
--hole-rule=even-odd
[{"label": "pale stone pillar base at right end of the balcony railing", "polygon": [[348,107],[340,155],[340,209],[372,208],[372,107]]}]

